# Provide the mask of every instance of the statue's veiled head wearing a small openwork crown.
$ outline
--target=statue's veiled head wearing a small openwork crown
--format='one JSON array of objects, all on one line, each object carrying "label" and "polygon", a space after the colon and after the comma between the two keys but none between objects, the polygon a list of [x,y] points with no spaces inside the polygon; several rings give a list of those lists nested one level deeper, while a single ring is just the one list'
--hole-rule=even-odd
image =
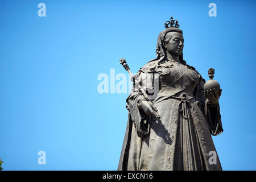
[{"label": "statue's veiled head wearing a small openwork crown", "polygon": [[183,31],[179,28],[177,20],[173,20],[171,17],[170,21],[164,23],[166,30],[163,30],[158,35],[158,43],[156,45],[156,57],[165,57],[166,52],[172,55],[179,56],[180,60],[183,61]]}]

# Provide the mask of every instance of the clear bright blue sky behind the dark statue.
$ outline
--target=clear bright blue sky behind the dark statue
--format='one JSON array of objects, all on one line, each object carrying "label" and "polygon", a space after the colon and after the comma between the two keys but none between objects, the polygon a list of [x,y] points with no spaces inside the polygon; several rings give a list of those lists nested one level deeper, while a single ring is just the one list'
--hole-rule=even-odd
[{"label": "clear bright blue sky behind the dark statue", "polygon": [[[46,4],[46,17],[38,4]],[[209,3],[217,5],[210,17]],[[224,170],[256,169],[255,1],[1,1],[0,158],[6,170],[115,170],[129,93],[97,92],[97,76],[155,58],[174,16],[184,59],[220,82]],[[110,79],[110,78],[109,78]],[[128,81],[128,80],[127,80]],[[115,81],[117,84],[119,81]],[[38,164],[46,151],[46,165]]]}]

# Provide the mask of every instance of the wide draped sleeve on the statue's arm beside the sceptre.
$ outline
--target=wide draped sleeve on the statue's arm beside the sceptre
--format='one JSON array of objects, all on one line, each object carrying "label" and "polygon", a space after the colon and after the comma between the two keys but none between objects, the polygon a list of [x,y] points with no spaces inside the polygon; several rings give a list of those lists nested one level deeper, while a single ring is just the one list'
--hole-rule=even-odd
[{"label": "wide draped sleeve on the statue's arm beside the sceptre", "polygon": [[[151,78],[151,77],[146,78],[145,74],[148,74],[148,73],[143,73],[139,71],[136,75],[134,75],[131,78],[134,81],[133,89],[131,90],[129,97],[126,99],[126,102],[127,102],[126,107],[129,110],[131,121],[133,121],[135,129],[137,130],[137,134],[141,138],[144,135],[148,134],[150,130],[150,118],[151,118],[151,116],[144,113],[143,109],[141,108],[141,101],[146,100],[146,98],[142,94],[142,89],[143,90],[150,89],[150,86],[148,85],[152,85],[152,82],[151,82],[152,80],[148,80],[148,78]],[[146,81],[147,81],[147,84],[144,83]],[[148,81],[150,81],[151,83],[148,84]]]}]

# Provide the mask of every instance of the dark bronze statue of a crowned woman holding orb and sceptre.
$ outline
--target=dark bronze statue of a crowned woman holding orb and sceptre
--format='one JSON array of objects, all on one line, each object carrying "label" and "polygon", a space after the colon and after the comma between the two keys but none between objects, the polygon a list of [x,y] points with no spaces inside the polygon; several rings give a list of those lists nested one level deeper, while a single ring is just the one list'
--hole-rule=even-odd
[{"label": "dark bronze statue of a crowned woman holding orb and sceptre", "polygon": [[[223,132],[220,85],[183,60],[177,20],[165,23],[156,59],[132,76],[129,118],[118,170],[222,170],[212,136]],[[124,59],[120,63],[130,69]],[[131,72],[130,72],[131,73]],[[214,69],[209,69],[212,79]],[[211,154],[215,163],[210,163]]]}]

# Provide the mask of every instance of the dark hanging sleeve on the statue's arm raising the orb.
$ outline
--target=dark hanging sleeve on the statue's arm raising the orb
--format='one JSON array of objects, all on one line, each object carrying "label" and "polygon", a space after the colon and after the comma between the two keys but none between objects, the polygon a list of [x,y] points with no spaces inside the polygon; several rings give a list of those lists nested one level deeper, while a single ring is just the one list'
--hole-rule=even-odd
[{"label": "dark hanging sleeve on the statue's arm raising the orb", "polygon": [[205,98],[204,94],[204,84],[205,80],[201,78],[196,87],[196,97],[199,100],[199,104],[205,113],[205,118],[209,126],[210,134],[213,136],[219,135],[223,132],[221,114],[220,114],[220,105],[212,105],[208,98]]}]

